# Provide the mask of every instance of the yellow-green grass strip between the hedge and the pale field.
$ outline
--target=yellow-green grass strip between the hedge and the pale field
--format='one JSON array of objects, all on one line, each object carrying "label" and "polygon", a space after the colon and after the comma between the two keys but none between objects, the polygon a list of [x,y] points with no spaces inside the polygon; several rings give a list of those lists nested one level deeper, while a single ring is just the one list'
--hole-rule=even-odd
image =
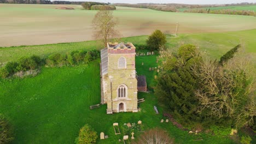
[{"label": "yellow-green grass strip between the hedge and the pale field", "polygon": [[[222,56],[237,44],[245,46],[245,51],[256,57],[256,29],[238,32],[224,33],[197,33],[197,34],[179,34],[178,37],[167,37],[167,46],[172,48],[179,44],[195,44],[202,51],[207,51],[212,58]],[[120,41],[133,44],[146,43],[147,36],[123,38]],[[21,57],[37,55],[40,57],[49,56],[51,53],[66,53],[74,50],[102,49],[98,41],[83,41],[78,43],[48,44],[34,46],[17,46],[0,48],[0,65],[9,61],[17,61]]]}]

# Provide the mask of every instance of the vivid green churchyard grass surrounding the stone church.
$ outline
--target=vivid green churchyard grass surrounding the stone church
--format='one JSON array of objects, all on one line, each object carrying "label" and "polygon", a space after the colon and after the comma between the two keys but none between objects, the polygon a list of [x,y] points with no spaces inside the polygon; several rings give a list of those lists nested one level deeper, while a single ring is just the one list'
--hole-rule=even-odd
[{"label": "vivid green churchyard grass surrounding the stone church", "polygon": [[[138,74],[147,76],[149,86],[154,85],[148,67],[156,65],[156,56],[136,57]],[[144,62],[144,65],[140,65]],[[160,127],[168,131],[177,143],[232,143],[228,137],[210,134],[189,135],[172,123],[160,123],[166,119],[153,93],[138,93],[146,101],[139,104],[141,112],[106,114],[106,105],[90,110],[89,106],[100,103],[99,62],[63,68],[42,68],[36,77],[0,80],[0,112],[7,115],[14,126],[14,143],[73,143],[80,127],[90,124],[100,137],[103,131],[109,136],[97,143],[119,143],[123,137],[124,123],[141,120],[144,128]],[[158,106],[159,115],[153,106]],[[115,135],[113,123],[120,125],[121,135]],[[136,139],[138,135],[135,135]],[[203,139],[202,141],[194,141]],[[131,140],[129,140],[131,141]]]}]

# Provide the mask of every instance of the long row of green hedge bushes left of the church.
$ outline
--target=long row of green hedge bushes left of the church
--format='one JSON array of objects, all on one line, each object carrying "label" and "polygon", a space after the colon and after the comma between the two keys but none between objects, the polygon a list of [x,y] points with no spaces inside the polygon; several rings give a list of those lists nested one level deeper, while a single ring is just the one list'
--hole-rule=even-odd
[{"label": "long row of green hedge bushes left of the church", "polygon": [[62,67],[64,65],[88,64],[91,61],[100,57],[100,51],[73,51],[62,55],[55,53],[47,58],[39,56],[23,57],[16,62],[8,62],[0,69],[0,77],[3,79],[18,76],[24,77],[27,75],[35,76],[40,67]]}]

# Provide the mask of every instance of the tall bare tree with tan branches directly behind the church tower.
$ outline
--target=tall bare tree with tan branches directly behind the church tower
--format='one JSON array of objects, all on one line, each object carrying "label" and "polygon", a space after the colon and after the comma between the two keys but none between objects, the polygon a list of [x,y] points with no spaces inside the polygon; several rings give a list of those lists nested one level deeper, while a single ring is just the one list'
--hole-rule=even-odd
[{"label": "tall bare tree with tan branches directly behind the church tower", "polygon": [[100,10],[92,20],[92,25],[96,30],[94,37],[102,39],[104,46],[107,46],[109,39],[118,37],[119,32],[115,30],[117,19],[114,18],[111,10]]}]

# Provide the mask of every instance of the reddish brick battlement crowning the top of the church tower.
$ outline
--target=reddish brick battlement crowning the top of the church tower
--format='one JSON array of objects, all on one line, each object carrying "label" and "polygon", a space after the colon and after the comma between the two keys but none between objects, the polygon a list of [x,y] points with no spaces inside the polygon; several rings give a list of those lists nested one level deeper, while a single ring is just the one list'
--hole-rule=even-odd
[{"label": "reddish brick battlement crowning the top of the church tower", "polygon": [[136,47],[132,43],[107,43],[108,53],[135,53]]}]

